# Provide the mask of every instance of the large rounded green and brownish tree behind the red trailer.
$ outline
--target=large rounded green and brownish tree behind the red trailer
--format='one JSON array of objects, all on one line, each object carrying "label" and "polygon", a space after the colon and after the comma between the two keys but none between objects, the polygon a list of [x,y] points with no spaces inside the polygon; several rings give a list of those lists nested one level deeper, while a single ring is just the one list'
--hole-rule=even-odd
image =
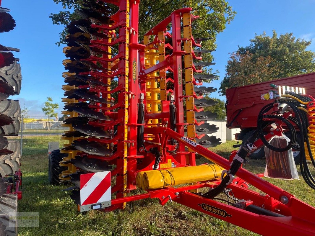
[{"label": "large rounded green and brownish tree behind the red trailer", "polygon": [[292,33],[278,37],[273,31],[272,37],[264,32],[250,42],[231,53],[219,89],[221,95],[225,95],[226,88],[315,71],[315,53],[306,50],[311,41],[296,39]]}]

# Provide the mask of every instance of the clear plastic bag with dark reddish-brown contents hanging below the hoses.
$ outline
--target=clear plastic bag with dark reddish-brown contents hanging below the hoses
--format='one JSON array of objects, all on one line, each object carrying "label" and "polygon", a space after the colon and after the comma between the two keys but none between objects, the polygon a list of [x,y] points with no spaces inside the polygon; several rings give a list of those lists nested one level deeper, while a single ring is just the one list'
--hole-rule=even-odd
[{"label": "clear plastic bag with dark reddish-brown contents hanging below the hoses", "polygon": [[[269,143],[277,148],[285,148],[288,146],[289,141],[290,139],[282,134],[282,136],[274,136]],[[284,152],[276,152],[265,146],[265,155],[265,177],[287,180],[299,179],[292,149]]]}]

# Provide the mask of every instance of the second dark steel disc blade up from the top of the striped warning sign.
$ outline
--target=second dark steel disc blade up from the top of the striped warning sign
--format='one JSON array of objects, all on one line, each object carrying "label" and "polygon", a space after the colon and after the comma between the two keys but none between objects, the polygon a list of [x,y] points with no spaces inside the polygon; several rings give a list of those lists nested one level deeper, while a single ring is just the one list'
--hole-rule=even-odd
[{"label": "second dark steel disc blade up from the top of the striped warning sign", "polygon": [[107,149],[106,145],[101,145],[98,142],[92,141],[89,142],[88,140],[74,140],[72,143],[72,146],[74,146],[79,151],[93,154],[93,155],[99,155],[99,156],[109,156],[112,155],[112,150]]}]

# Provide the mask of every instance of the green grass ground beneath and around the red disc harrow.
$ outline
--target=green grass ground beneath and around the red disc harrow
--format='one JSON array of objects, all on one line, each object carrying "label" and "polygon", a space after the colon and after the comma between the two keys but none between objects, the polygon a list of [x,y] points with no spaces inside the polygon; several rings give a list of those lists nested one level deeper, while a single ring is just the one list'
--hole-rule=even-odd
[{"label": "green grass ground beneath and around the red disc harrow", "polygon": [[[228,157],[233,144],[235,142],[228,141],[212,150]],[[39,228],[19,228],[20,236],[257,235],[177,203],[168,202],[161,206],[155,199],[132,202],[125,210],[110,213],[89,211],[86,215],[80,214],[69,193],[60,191],[67,186],[49,185],[48,160],[44,154],[47,149],[40,153],[45,148],[47,143],[38,141],[36,154],[24,155],[21,160],[23,198],[19,201],[18,211],[39,212]],[[207,160],[198,160],[198,163],[204,162]],[[249,159],[244,167],[261,173],[265,169],[265,161]],[[304,183],[301,176],[300,179],[268,181],[315,206],[314,190]]]}]

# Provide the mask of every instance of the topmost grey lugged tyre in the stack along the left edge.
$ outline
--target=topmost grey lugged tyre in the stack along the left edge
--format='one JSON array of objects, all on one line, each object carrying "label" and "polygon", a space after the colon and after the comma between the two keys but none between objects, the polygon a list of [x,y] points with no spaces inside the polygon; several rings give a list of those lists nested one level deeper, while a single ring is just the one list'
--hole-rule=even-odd
[{"label": "topmost grey lugged tyre in the stack along the left edge", "polygon": [[15,61],[12,65],[0,68],[0,80],[14,87],[14,94],[20,94],[22,82],[21,65]]}]

